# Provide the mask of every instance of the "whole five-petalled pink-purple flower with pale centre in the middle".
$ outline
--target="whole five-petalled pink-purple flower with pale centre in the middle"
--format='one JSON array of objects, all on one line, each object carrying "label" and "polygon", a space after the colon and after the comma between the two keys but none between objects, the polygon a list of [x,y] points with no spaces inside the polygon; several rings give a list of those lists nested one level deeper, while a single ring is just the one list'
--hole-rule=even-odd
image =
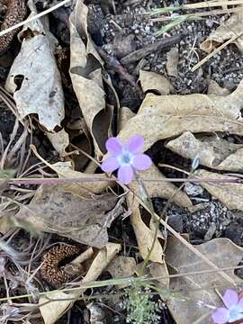
[{"label": "whole five-petalled pink-purple flower with pale centre in the middle", "polygon": [[125,145],[115,137],[106,140],[105,147],[110,157],[105,158],[101,168],[104,172],[113,172],[118,169],[118,179],[121,184],[130,184],[134,172],[146,170],[152,165],[151,158],[142,154],[144,139],[134,135]]}]

